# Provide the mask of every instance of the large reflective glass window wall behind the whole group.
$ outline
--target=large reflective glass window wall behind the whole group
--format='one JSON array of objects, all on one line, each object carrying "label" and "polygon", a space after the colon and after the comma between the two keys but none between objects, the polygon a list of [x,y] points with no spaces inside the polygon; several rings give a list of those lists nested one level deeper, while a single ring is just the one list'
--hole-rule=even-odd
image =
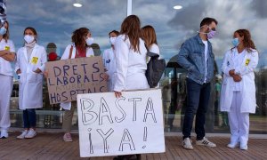
[{"label": "large reflective glass window wall behind the whole group", "polygon": [[[16,48],[23,45],[23,30],[28,26],[36,28],[38,44],[47,48],[47,53],[56,52],[61,56],[65,47],[70,44],[74,29],[89,28],[94,37],[95,50],[101,54],[110,47],[109,31],[120,29],[126,16],[126,0],[80,0],[82,7],[74,7],[72,0],[24,0],[7,2],[7,19],[10,22],[11,39]],[[174,5],[182,9],[174,10]],[[209,109],[206,114],[207,132],[229,132],[227,114],[219,111],[219,94],[222,85],[221,66],[223,55],[232,47],[233,32],[239,28],[251,31],[255,46],[260,52],[260,60],[255,69],[256,113],[250,116],[250,132],[267,132],[267,1],[263,0],[134,0],[133,14],[142,20],[142,26],[151,25],[156,29],[161,57],[166,59],[167,68],[160,86],[163,92],[166,132],[181,132],[184,109],[186,108],[186,72],[177,64],[176,55],[181,44],[190,36],[198,34],[199,23],[205,17],[218,20],[213,44],[216,71],[212,81],[212,92]],[[18,106],[18,84],[14,84],[12,93],[12,126],[22,126],[16,121],[20,118]],[[61,128],[62,112],[59,106],[51,107],[47,101],[44,87],[44,108],[40,111],[39,127]],[[48,111],[51,112],[48,112]],[[52,112],[53,111],[53,112]],[[52,113],[56,113],[53,116]],[[43,115],[43,116],[42,116]],[[51,117],[50,117],[51,116]],[[48,120],[47,120],[48,119]],[[47,121],[46,121],[47,120]],[[73,124],[77,120],[74,119]]]}]

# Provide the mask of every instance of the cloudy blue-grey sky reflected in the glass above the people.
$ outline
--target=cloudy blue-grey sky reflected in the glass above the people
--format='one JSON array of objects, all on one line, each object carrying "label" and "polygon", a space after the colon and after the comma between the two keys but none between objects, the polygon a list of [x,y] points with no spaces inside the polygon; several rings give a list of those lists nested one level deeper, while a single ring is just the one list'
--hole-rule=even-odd
[{"label": "cloudy blue-grey sky reflected in the glass above the people", "polygon": [[[120,29],[126,16],[127,1],[80,0],[84,4],[81,8],[73,7],[73,2],[8,0],[7,20],[10,21],[11,38],[16,48],[23,43],[23,29],[32,26],[39,34],[39,44],[46,46],[53,42],[57,44],[59,54],[70,43],[72,31],[80,27],[92,30],[95,43],[100,44],[102,51],[107,49],[108,33]],[[182,10],[174,10],[175,4],[181,4]],[[185,39],[197,34],[200,20],[215,18],[219,25],[211,42],[216,59],[222,59],[224,52],[231,48],[233,32],[239,28],[251,31],[259,52],[267,51],[266,6],[266,0],[133,0],[133,13],[140,17],[142,26],[154,26],[158,45],[166,60],[178,53]]]}]

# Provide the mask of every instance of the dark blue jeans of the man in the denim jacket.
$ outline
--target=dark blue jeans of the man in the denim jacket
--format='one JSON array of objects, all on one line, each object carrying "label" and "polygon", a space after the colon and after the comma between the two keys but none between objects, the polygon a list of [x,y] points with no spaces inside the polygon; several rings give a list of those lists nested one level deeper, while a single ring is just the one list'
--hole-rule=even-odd
[{"label": "dark blue jeans of the man in the denim jacket", "polygon": [[205,137],[204,125],[210,95],[210,83],[198,84],[187,78],[186,86],[187,107],[182,127],[183,139],[190,138],[194,116],[196,115],[195,132],[197,134],[197,140],[202,140]]}]

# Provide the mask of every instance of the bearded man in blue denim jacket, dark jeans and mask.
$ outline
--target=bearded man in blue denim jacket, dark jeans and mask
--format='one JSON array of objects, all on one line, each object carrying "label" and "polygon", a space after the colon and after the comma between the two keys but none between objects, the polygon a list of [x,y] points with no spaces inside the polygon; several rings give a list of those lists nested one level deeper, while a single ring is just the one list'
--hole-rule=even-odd
[{"label": "bearded man in blue denim jacket, dark jeans and mask", "polygon": [[213,142],[206,139],[204,125],[211,88],[210,82],[214,76],[214,53],[208,39],[214,37],[217,24],[217,20],[213,18],[203,19],[198,35],[186,40],[178,53],[178,63],[188,71],[186,79],[188,101],[182,127],[182,147],[186,149],[193,149],[190,132],[195,115],[196,144],[216,147]]}]

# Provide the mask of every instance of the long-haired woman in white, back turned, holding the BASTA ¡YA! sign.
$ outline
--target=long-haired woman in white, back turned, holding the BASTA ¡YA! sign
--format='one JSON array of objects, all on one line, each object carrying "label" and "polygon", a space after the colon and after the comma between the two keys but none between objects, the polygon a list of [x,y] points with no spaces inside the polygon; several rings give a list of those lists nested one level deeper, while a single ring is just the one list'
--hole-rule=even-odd
[{"label": "long-haired woman in white, back turned, holding the BASTA \u00a1YA! sign", "polygon": [[[147,49],[142,40],[141,22],[136,15],[125,18],[121,24],[120,36],[115,42],[116,76],[114,92],[120,97],[123,91],[149,89],[145,71]],[[140,159],[137,155],[137,159]],[[115,159],[124,159],[117,156]]]}]

